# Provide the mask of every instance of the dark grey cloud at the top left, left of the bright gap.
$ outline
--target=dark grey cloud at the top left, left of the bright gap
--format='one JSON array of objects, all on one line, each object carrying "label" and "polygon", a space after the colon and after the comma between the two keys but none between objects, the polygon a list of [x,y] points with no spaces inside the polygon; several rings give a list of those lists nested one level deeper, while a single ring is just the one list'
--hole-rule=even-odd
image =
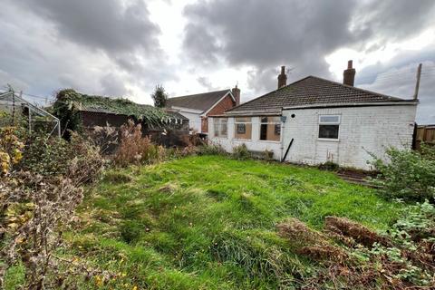
[{"label": "dark grey cloud at the top left, left of the bright gap", "polygon": [[73,43],[107,52],[125,52],[138,47],[147,52],[159,48],[160,29],[150,22],[143,1],[123,5],[117,0],[23,0],[17,5],[40,14]]}]

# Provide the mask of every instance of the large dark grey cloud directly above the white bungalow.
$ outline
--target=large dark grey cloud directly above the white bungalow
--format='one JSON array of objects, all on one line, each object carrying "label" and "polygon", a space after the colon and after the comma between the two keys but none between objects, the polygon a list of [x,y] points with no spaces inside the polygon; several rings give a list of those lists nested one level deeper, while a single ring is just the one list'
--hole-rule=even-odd
[{"label": "large dark grey cloud directly above the white bungalow", "polygon": [[[352,6],[344,0],[200,2],[186,8],[191,24],[184,46],[207,53],[205,58],[220,54],[231,65],[264,69],[286,63],[301,72],[328,74],[324,54],[353,39],[347,28]],[[201,34],[208,35],[207,43],[192,40]],[[221,45],[203,49],[208,43]]]}]

